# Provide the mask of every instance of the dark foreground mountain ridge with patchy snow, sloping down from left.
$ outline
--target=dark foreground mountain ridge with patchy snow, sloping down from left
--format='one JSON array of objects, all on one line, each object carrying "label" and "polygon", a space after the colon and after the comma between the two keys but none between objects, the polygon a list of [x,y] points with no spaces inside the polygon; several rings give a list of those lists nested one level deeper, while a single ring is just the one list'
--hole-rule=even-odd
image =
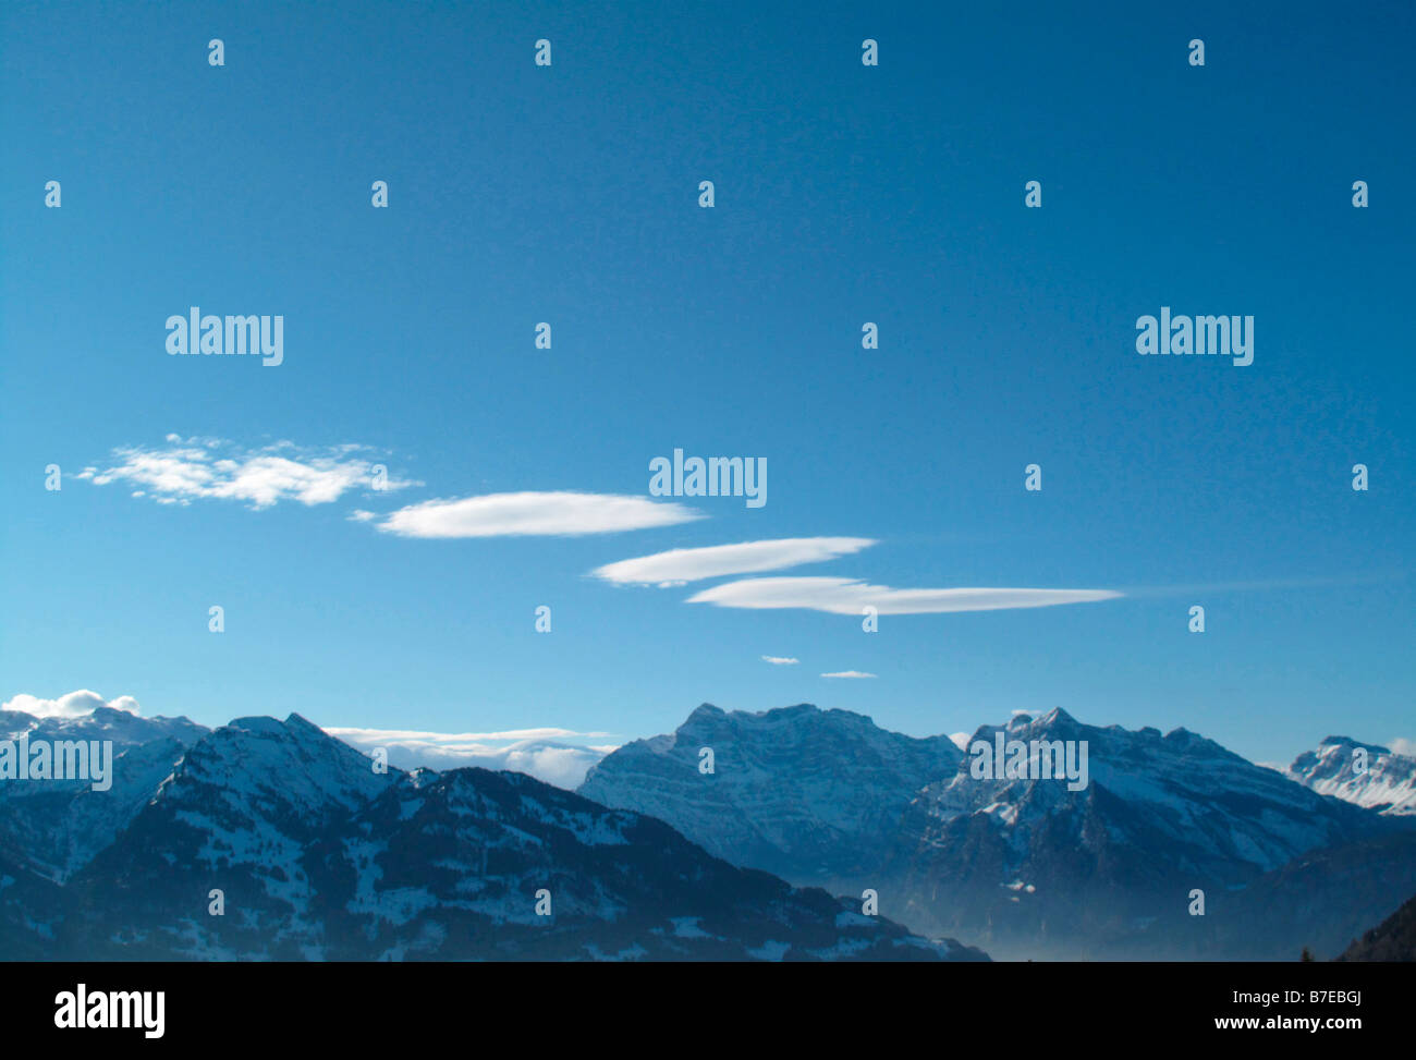
[{"label": "dark foreground mountain ridge with patchy snow, sloping down from left", "polygon": [[[663,822],[521,774],[371,767],[295,714],[232,721],[193,745],[64,889],[20,867],[0,879],[0,951],[987,959],[861,915],[858,903],[736,869]],[[537,915],[542,889],[547,917]],[[214,890],[222,915],[212,914]]]}]

